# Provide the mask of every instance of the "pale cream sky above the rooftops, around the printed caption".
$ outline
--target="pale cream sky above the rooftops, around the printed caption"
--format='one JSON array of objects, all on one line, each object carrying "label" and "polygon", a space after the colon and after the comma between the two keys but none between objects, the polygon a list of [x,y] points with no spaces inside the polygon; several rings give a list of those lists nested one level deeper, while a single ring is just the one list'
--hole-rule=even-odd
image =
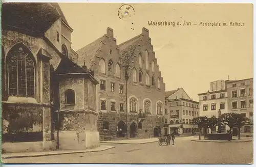
[{"label": "pale cream sky above the rooftops, around the printed caption", "polygon": [[[61,3],[74,30],[72,48],[78,50],[114,29],[117,44],[149,30],[165,90],[183,88],[195,101],[209,82],[253,77],[253,6],[251,4],[129,4],[131,17],[120,19],[119,3]],[[123,8],[123,7],[122,7]],[[122,10],[123,12],[124,10]],[[175,22],[175,26],[148,25]],[[191,22],[178,26],[177,22]],[[221,26],[200,26],[216,22]],[[230,22],[244,26],[230,26]],[[196,25],[194,25],[194,23]],[[223,26],[223,23],[227,23]]]}]

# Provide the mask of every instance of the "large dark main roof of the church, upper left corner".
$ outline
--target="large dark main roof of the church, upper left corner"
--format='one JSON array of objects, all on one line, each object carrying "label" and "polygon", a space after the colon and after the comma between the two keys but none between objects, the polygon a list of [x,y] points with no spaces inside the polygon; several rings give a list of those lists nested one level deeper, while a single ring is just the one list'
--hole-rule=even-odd
[{"label": "large dark main roof of the church, upper left corner", "polygon": [[43,36],[61,16],[49,3],[3,3],[2,25]]}]

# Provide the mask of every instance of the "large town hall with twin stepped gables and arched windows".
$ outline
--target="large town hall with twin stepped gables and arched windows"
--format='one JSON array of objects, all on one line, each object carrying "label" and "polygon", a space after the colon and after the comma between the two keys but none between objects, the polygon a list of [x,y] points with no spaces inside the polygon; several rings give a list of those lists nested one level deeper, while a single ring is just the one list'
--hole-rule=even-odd
[{"label": "large town hall with twin stepped gables and arched windows", "polygon": [[160,135],[165,84],[147,29],[117,45],[108,27],[105,35],[77,54],[78,64],[87,66],[100,81],[96,101],[101,141]]}]

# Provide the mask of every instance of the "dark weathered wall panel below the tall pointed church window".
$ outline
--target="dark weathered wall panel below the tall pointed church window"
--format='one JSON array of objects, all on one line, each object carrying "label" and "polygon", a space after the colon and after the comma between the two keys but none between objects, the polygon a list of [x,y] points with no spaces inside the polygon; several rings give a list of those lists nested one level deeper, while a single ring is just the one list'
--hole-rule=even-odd
[{"label": "dark weathered wall panel below the tall pointed church window", "polygon": [[41,106],[2,103],[2,142],[43,141]]}]

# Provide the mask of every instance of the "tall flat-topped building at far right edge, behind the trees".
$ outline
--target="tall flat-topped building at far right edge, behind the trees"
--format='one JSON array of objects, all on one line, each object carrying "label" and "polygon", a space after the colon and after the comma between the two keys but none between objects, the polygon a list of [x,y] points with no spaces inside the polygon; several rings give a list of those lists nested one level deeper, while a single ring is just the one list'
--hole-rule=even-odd
[{"label": "tall flat-topped building at far right edge, behind the trees", "polygon": [[[253,78],[227,82],[228,112],[239,113],[253,122]],[[236,133],[237,129],[233,129]],[[253,124],[241,128],[242,133],[253,133]]]}]

